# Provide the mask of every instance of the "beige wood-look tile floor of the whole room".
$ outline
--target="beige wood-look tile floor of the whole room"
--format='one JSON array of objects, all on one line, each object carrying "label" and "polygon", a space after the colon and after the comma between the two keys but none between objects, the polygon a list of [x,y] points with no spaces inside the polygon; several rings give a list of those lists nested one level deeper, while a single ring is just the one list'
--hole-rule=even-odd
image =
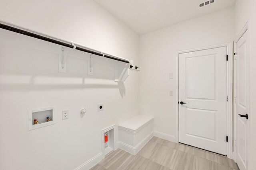
[{"label": "beige wood-look tile floor of the whole room", "polygon": [[239,170],[234,160],[153,137],[136,155],[117,149],[90,170]]}]

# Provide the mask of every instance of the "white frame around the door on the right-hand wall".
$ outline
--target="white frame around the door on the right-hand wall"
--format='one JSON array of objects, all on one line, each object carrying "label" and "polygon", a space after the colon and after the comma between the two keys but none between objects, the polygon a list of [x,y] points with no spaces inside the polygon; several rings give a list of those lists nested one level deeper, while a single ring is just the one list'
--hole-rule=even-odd
[{"label": "white frame around the door on the right-hand wall", "polygon": [[[240,31],[240,33],[238,34],[238,36],[236,37],[235,41],[234,41],[234,53],[236,53],[236,44],[237,42],[239,41],[239,39],[244,35],[244,33],[247,31],[248,33],[248,45],[249,45],[249,51],[248,51],[248,59],[249,59],[249,63],[250,63],[250,20],[248,20],[246,22],[246,24],[244,25],[244,27],[242,28],[242,30]],[[249,65],[250,67],[250,65]],[[234,70],[235,71],[235,70]],[[249,76],[249,82],[248,82],[248,94],[250,94],[250,68],[248,68],[248,76]],[[234,83],[234,96],[236,94],[236,86],[235,86],[235,83]],[[249,107],[248,107],[248,112],[250,113],[250,96],[248,96],[248,104],[249,104]],[[235,106],[235,105],[234,105]],[[236,107],[234,107],[234,115],[236,115]],[[237,140],[237,137],[236,137],[236,127],[237,127],[237,117],[234,116],[234,141]],[[247,149],[250,148],[250,117],[248,119],[248,145],[247,145]],[[236,162],[236,152],[237,152],[237,147],[234,145],[234,160]],[[247,152],[247,161],[248,161],[248,168],[250,168],[250,154],[249,154],[249,150]]]}]

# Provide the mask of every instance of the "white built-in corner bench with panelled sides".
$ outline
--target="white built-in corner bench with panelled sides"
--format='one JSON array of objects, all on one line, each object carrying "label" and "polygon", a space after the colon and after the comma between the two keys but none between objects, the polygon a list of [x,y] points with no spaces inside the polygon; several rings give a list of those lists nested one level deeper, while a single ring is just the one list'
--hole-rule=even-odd
[{"label": "white built-in corner bench with panelled sides", "polygon": [[153,137],[153,119],[148,115],[136,115],[119,123],[119,148],[137,154]]}]

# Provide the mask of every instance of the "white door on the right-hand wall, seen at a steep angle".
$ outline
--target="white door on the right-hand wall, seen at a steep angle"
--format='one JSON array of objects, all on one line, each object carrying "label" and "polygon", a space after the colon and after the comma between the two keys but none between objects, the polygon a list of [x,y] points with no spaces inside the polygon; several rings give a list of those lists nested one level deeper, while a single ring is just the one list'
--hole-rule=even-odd
[{"label": "white door on the right-hand wall, seen at a steep angle", "polygon": [[[249,79],[249,58],[248,58],[248,33],[247,31],[236,44],[234,57],[234,116],[236,117],[236,162],[240,170],[247,170],[248,157],[248,119],[249,98],[248,98],[248,79]],[[241,116],[240,116],[240,115]]]}]

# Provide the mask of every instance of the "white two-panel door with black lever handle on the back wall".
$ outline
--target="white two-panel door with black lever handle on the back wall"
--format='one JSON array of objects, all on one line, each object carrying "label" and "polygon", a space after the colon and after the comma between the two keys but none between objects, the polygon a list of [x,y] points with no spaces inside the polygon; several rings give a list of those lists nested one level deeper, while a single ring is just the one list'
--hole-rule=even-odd
[{"label": "white two-panel door with black lever handle on the back wall", "polygon": [[179,141],[223,155],[227,155],[226,56],[227,47],[179,55]]}]

